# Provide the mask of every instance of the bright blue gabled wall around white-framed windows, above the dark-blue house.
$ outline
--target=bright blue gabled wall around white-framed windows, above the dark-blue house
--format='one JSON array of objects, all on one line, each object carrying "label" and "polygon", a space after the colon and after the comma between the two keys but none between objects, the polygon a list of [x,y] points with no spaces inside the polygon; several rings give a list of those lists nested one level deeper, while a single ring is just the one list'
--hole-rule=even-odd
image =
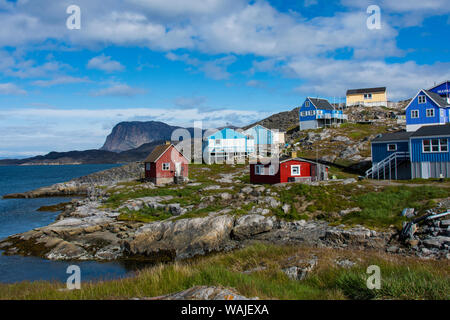
[{"label": "bright blue gabled wall around white-framed windows, above the dark-blue house", "polygon": [[[419,96],[425,96],[426,103],[419,104]],[[434,117],[426,116],[427,109],[434,109]],[[425,93],[419,93],[406,108],[406,130],[411,132],[416,131],[423,125],[444,124],[448,119],[448,115],[444,109],[442,109],[441,112],[441,109],[442,108],[439,108],[439,106],[426,96]],[[419,111],[418,118],[411,117],[411,112],[413,110]]]}]

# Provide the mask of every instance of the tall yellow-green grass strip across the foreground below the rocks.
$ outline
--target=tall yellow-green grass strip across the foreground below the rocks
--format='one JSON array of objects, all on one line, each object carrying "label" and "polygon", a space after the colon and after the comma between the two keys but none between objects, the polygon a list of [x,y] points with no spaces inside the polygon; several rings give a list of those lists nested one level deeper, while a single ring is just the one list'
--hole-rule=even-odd
[{"label": "tall yellow-green grass strip across the foreground below the rocks", "polygon": [[[315,271],[303,281],[289,279],[281,269],[288,257],[318,257]],[[357,261],[351,269],[335,259]],[[366,286],[366,268],[381,269],[380,290]],[[250,274],[243,271],[264,266]],[[0,299],[130,299],[154,297],[196,285],[234,288],[260,299],[450,299],[447,261],[420,261],[371,251],[310,249],[255,244],[234,252],[156,265],[126,279],[83,283],[81,290],[62,291],[57,282],[0,285]]]}]

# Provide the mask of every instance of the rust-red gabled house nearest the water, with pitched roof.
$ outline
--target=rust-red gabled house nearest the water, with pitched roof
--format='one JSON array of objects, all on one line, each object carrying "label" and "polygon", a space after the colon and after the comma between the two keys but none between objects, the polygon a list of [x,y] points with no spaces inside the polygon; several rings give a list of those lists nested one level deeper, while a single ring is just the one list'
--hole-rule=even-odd
[{"label": "rust-red gabled house nearest the water, with pitched roof", "polygon": [[189,175],[189,160],[173,144],[156,146],[144,163],[145,179],[157,185],[184,181]]}]

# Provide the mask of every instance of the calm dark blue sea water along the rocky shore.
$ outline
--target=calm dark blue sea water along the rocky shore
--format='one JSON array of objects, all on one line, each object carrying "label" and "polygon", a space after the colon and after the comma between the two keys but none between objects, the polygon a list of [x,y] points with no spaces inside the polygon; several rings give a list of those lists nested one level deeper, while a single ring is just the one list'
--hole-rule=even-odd
[{"label": "calm dark blue sea water along the rocky shore", "polygon": [[[70,198],[1,199],[8,193],[24,192],[81,177],[117,165],[0,166],[0,239],[52,223],[58,212],[38,212],[41,206],[70,201]],[[1,251],[0,251],[1,253]],[[55,262],[35,257],[0,255],[0,283],[59,280],[65,282],[67,267],[77,264],[82,281],[126,276],[134,266],[108,262]]]}]

